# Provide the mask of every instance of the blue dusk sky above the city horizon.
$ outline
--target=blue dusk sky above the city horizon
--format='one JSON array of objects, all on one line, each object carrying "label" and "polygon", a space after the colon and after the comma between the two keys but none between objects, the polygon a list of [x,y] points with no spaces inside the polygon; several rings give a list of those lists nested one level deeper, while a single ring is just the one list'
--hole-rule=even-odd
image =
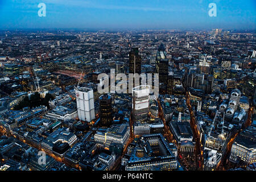
[{"label": "blue dusk sky above the city horizon", "polygon": [[[46,16],[39,17],[39,3]],[[209,3],[217,16],[210,17]],[[255,30],[255,0],[0,0],[0,29],[143,28]]]}]

